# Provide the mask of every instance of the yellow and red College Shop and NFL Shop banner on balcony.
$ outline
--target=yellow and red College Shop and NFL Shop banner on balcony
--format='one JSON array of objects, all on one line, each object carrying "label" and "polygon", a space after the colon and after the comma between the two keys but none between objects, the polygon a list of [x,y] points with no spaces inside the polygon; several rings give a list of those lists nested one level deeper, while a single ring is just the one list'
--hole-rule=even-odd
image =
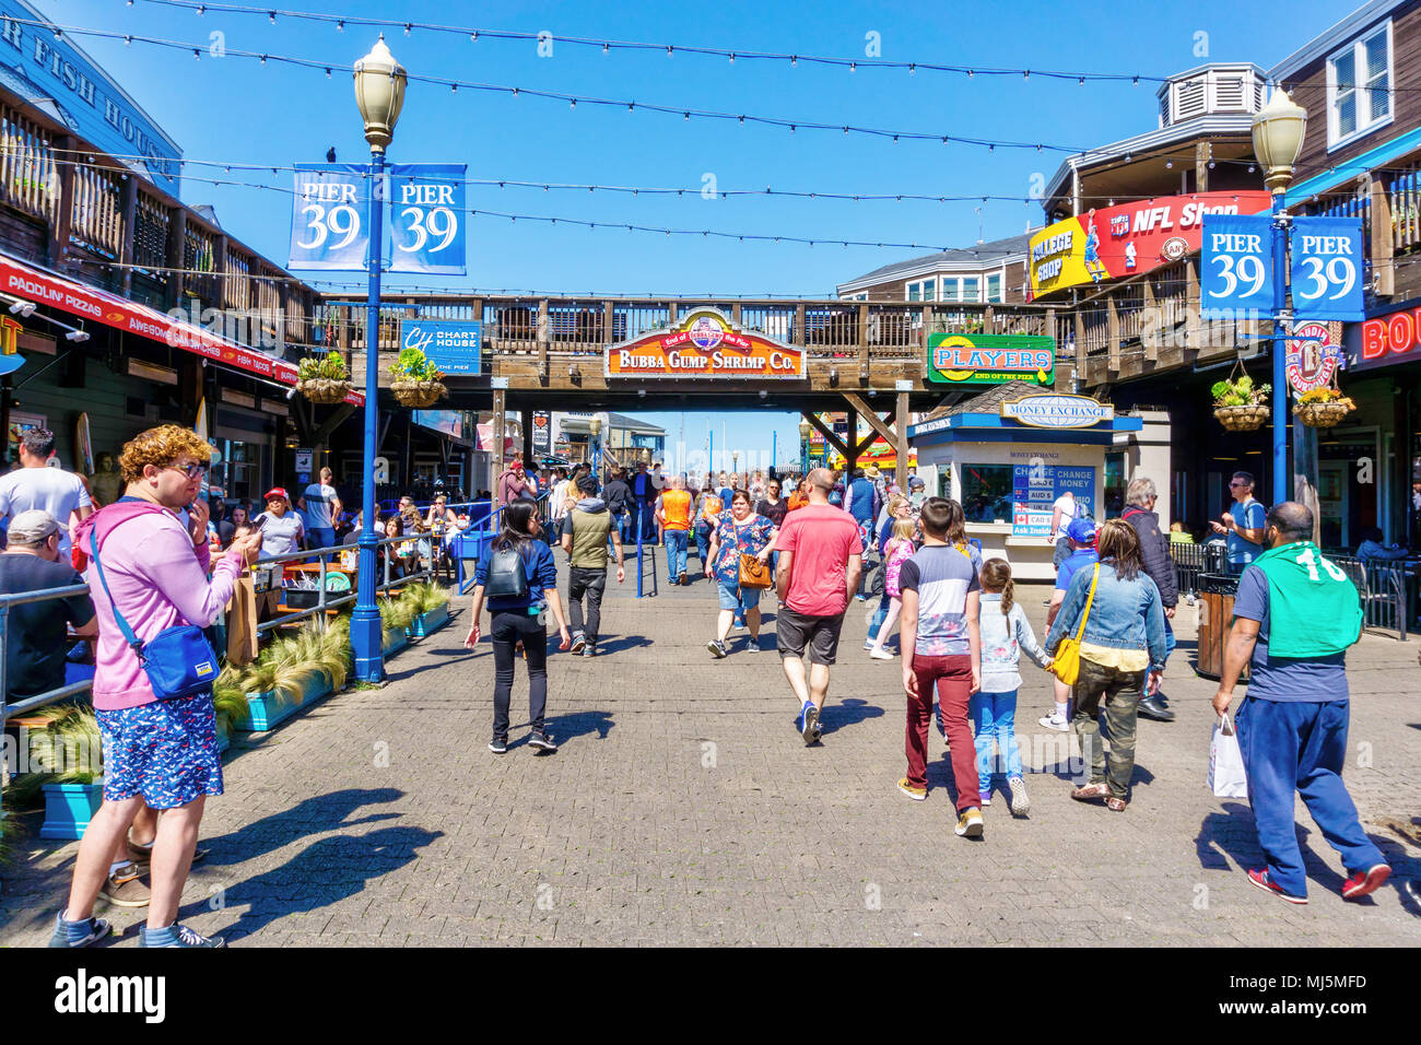
[{"label": "yellow and red College Shop and NFL Shop banner on balcony", "polygon": [[1196,192],[1096,208],[1056,222],[1032,236],[1030,296],[1178,262],[1199,249],[1205,215],[1252,215],[1268,206],[1263,191]]}]

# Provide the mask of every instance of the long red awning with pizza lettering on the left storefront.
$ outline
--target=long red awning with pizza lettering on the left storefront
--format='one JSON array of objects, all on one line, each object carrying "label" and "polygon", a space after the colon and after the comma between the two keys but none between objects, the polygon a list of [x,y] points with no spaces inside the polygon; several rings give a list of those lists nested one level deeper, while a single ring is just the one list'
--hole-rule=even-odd
[{"label": "long red awning with pizza lettering on the left storefront", "polygon": [[[0,291],[36,304],[60,309],[80,318],[102,323],[114,330],[161,341],[269,381],[279,381],[284,385],[296,384],[296,365],[286,360],[263,355],[190,323],[175,320],[146,304],[129,301],[126,297],[107,290],[87,287],[6,253],[0,253]],[[365,402],[365,397],[352,391],[345,397],[345,401],[360,407]]]}]

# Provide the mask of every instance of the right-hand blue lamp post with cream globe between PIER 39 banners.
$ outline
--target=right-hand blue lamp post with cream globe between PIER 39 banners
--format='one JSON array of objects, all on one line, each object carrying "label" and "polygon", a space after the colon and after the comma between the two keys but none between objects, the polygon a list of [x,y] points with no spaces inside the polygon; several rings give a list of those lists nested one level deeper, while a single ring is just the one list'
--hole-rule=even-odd
[{"label": "right-hand blue lamp post with cream globe between PIER 39 banners", "polygon": [[[1283,206],[1285,193],[1293,181],[1297,154],[1303,148],[1303,132],[1307,128],[1307,111],[1295,105],[1280,88],[1273,88],[1259,114],[1253,118],[1253,155],[1263,165],[1263,183],[1273,193],[1273,503],[1287,500],[1287,330],[1293,314],[1287,307],[1287,226],[1292,219]],[[1307,466],[1307,458],[1316,456],[1317,445],[1312,441],[1312,455],[1307,452],[1307,434],[1299,432],[1306,425],[1293,425],[1295,444],[1293,469],[1307,482],[1316,482],[1316,466]]]}]

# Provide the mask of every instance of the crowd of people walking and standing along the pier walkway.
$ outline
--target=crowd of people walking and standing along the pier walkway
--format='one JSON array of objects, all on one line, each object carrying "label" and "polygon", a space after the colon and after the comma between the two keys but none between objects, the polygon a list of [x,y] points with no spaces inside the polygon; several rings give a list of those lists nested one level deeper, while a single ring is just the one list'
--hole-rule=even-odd
[{"label": "crowd of people walking and standing along the pier walkway", "polygon": [[[44,461],[45,435],[26,445],[20,471],[47,468],[30,463]],[[205,802],[223,792],[212,701],[219,663],[202,644],[200,630],[223,613],[240,574],[271,553],[273,537],[300,542],[304,525],[284,522],[290,499],[273,491],[264,522],[229,519],[232,532],[225,535],[198,496],[210,455],[207,442],[190,429],[162,425],[142,432],[119,459],[122,495],[98,510],[81,503],[80,489],[51,476],[33,488],[24,476],[0,486],[0,518],[9,523],[0,590],[68,587],[81,579],[88,584],[87,596],[14,607],[9,678],[21,690],[57,688],[63,665],[55,651],[67,636],[97,640],[92,705],[104,748],[104,802],[80,845],[67,901],[55,916],[54,947],[88,945],[109,933],[109,923],[94,914],[99,896],[148,907],[141,945],[223,945],[178,921],[188,872],[203,856],[198,833]],[[914,800],[928,798],[928,735],[936,707],[949,745],[956,835],[983,836],[983,809],[999,782],[1012,813],[1029,812],[1015,732],[1025,653],[1067,685],[1049,718],[1073,729],[1080,744],[1084,779],[1070,796],[1103,802],[1114,812],[1127,809],[1137,717],[1158,697],[1169,655],[1174,594],[1160,574],[1167,537],[1154,513],[1152,482],[1137,476],[1130,483],[1118,519],[1100,526],[1083,518],[1066,522],[1049,631],[1037,644],[1009,563],[983,562],[966,537],[966,515],[956,500],[915,502],[917,483],[902,495],[880,489],[867,472],[840,482],[824,468],[796,482],[789,498],[783,479],[773,475],[728,476],[722,488],[702,483],[695,498],[684,481],[658,485],[644,481],[647,475],[641,466],[630,481],[617,479],[630,492],[630,506],[621,491],[615,503],[624,516],[634,516],[634,527],[651,525],[664,542],[668,533],[678,535],[668,542],[676,550],[671,577],[678,584],[689,577],[681,566],[688,535],[705,526],[702,570],[716,586],[719,609],[708,643],[713,657],[726,655],[737,616],[749,631],[746,648],[762,648],[759,601],[773,587],[776,648],[794,701],[794,729],[806,746],[821,741],[845,614],[875,591],[863,580],[865,547],[877,546],[872,572],[882,574],[882,593],[865,616],[874,660],[884,658],[895,620],[901,633],[907,773],[898,789]],[[519,488],[500,476],[500,496],[507,492],[509,502],[489,554],[479,560],[465,637],[468,647],[479,644],[487,609],[495,754],[509,749],[520,654],[530,677],[527,744],[540,754],[557,749],[547,728],[547,618],[560,650],[595,657],[612,564],[618,583],[625,580],[627,520],[612,508],[611,483],[600,489],[590,469],[567,482],[571,488],[564,486],[561,510],[547,533],[543,506],[520,496],[529,483]],[[1343,896],[1360,899],[1378,889],[1391,869],[1363,832],[1341,781],[1349,722],[1344,655],[1361,628],[1357,591],[1312,542],[1307,508],[1283,502],[1255,509],[1245,473],[1231,486],[1241,499],[1221,526],[1236,537],[1229,554],[1241,577],[1214,708],[1228,714],[1248,665],[1249,691],[1236,728],[1265,854],[1265,866],[1249,870],[1249,881],[1289,903],[1307,901],[1293,825],[1295,795],[1302,795],[1349,872]],[[304,499],[308,506],[327,503],[331,515],[317,519],[334,520],[340,502],[323,493],[307,491]],[[50,506],[41,506],[47,499]],[[90,510],[81,513],[82,508]],[[409,509],[412,503],[402,505],[387,525],[402,525]],[[458,525],[438,498],[419,515],[431,532],[438,523]],[[566,611],[553,545],[570,566]]]}]

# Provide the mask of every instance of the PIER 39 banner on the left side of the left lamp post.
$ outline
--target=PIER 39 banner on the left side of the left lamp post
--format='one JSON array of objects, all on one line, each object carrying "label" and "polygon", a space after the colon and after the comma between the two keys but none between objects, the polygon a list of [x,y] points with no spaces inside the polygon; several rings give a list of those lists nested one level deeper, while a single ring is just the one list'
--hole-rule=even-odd
[{"label": "PIER 39 banner on the left side of the left lamp post", "polygon": [[297,164],[288,269],[365,272],[369,215],[364,164]]}]

